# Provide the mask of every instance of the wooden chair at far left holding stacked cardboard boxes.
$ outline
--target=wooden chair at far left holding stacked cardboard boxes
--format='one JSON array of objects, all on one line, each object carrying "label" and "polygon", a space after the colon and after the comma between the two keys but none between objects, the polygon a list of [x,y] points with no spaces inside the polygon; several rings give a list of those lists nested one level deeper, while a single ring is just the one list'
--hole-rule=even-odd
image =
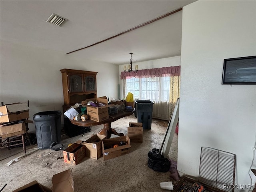
[{"label": "wooden chair at far left holding stacked cardboard boxes", "polygon": [[[12,103],[12,104],[20,104],[19,103]],[[29,106],[29,100],[26,102],[26,104]],[[10,105],[10,104],[5,104],[5,105]],[[1,102],[1,106],[4,106],[4,102]],[[24,153],[26,153],[26,140],[28,140],[28,142],[31,144],[30,138],[28,136],[28,118],[26,118],[27,121],[25,121],[25,126],[26,126],[26,133],[22,134],[22,135],[15,135],[12,137],[17,137],[17,136],[21,136],[22,139],[14,139],[12,141],[10,141],[10,138],[6,138],[6,140],[2,140],[2,138],[0,138],[0,148],[3,147],[8,147],[8,149],[10,149],[10,146],[16,146],[16,145],[20,145],[21,143],[19,143],[20,141],[22,141],[22,145],[23,145],[23,151]]]}]

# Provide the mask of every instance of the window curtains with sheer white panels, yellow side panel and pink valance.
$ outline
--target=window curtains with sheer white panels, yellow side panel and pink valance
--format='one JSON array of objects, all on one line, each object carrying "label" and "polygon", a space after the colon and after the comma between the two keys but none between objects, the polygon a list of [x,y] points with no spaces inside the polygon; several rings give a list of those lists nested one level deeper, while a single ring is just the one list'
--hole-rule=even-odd
[{"label": "window curtains with sheer white panels, yellow side panel and pink valance", "polygon": [[128,92],[134,99],[149,99],[153,104],[152,117],[170,120],[180,97],[180,66],[139,70],[138,73],[121,72],[124,96]]}]

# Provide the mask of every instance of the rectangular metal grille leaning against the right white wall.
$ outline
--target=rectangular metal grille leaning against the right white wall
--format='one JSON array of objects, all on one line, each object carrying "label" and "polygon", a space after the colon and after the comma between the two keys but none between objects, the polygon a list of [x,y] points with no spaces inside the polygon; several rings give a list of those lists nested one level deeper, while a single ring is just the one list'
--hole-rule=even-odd
[{"label": "rectangular metal grille leaning against the right white wall", "polygon": [[236,155],[209,147],[201,148],[199,182],[234,192]]}]

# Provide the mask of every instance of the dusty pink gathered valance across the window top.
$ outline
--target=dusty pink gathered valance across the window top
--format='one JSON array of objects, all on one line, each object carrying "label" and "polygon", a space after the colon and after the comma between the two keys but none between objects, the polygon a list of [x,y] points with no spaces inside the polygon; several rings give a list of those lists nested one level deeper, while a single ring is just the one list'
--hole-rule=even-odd
[{"label": "dusty pink gathered valance across the window top", "polygon": [[148,78],[148,77],[167,77],[167,76],[180,76],[180,66],[173,67],[162,67],[154,69],[143,69],[138,70],[137,73],[134,72],[121,72],[121,79],[135,78]]}]

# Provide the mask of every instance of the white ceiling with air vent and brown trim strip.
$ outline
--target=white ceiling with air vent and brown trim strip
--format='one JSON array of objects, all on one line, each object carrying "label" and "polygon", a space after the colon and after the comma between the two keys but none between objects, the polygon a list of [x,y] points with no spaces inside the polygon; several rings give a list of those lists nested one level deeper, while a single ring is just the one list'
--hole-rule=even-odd
[{"label": "white ceiling with air vent and brown trim strip", "polygon": [[[186,6],[187,0],[5,0],[0,2],[1,40],[68,53],[110,38]],[[52,14],[68,21],[46,22]],[[126,64],[180,55],[182,11],[95,46],[70,53]]]}]

